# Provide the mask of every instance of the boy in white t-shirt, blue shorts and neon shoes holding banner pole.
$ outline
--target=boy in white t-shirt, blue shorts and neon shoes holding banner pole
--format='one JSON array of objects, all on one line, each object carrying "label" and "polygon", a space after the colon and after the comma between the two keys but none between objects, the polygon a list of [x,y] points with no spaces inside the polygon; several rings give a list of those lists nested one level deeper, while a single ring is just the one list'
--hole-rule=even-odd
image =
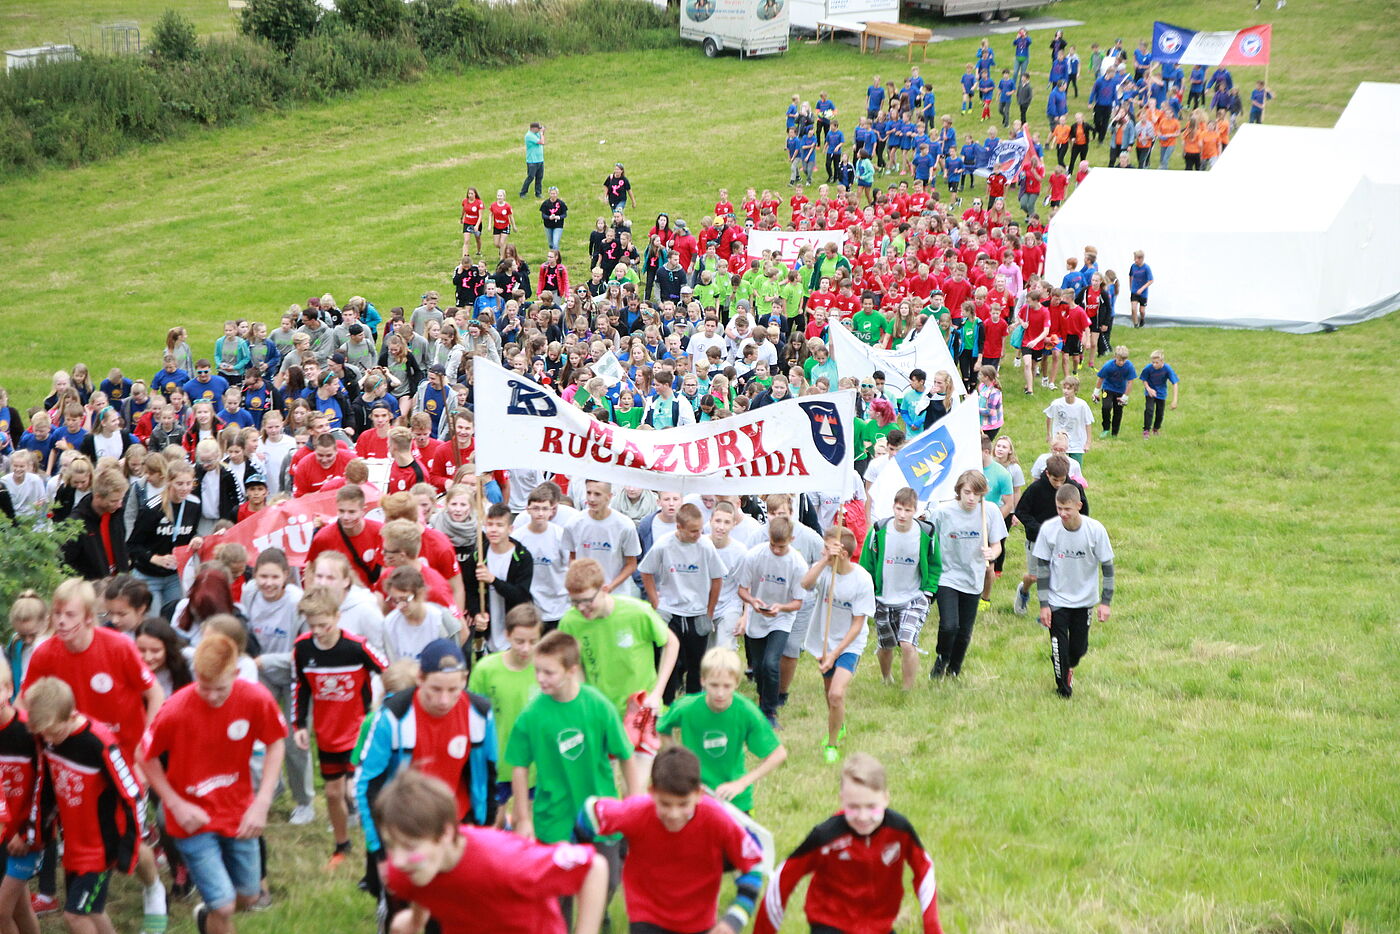
[{"label": "boy in white t-shirt, blue shorts and neon shoes holding banner pole", "polygon": [[[826,745],[822,758],[836,763],[846,737],[846,689],[865,651],[865,620],[875,613],[875,581],[851,560],[855,535],[844,525],[826,529],[822,557],[802,576],[804,590],[816,590],[813,619],[806,630],[806,650],[816,655],[826,689]],[[820,615],[822,623],[816,626]]]}]

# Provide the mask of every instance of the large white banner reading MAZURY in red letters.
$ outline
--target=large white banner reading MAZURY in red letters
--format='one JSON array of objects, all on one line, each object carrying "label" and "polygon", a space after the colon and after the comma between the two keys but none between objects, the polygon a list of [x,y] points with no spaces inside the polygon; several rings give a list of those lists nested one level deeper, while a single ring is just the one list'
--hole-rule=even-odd
[{"label": "large white banner reading MAZURY in red letters", "polygon": [[851,472],[850,391],[650,430],[605,424],[484,360],[473,375],[477,471],[533,468],[678,493],[819,493]]}]

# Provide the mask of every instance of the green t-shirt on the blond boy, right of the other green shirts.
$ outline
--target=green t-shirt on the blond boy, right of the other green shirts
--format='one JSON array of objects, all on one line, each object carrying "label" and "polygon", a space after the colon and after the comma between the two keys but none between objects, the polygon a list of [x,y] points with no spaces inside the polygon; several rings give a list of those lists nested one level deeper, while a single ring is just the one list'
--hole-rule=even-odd
[{"label": "green t-shirt on the blond boy, right of the other green shirts", "polygon": [[[680,745],[700,759],[700,780],[710,788],[748,772],[745,749],[763,759],[778,748],[773,727],[759,706],[743,695],[734,695],[734,702],[720,713],[710,709],[704,695],[678,700],[657,724],[657,732],[669,735],[676,730],[680,730]],[[734,800],[734,807],[753,808],[753,786]]]}]

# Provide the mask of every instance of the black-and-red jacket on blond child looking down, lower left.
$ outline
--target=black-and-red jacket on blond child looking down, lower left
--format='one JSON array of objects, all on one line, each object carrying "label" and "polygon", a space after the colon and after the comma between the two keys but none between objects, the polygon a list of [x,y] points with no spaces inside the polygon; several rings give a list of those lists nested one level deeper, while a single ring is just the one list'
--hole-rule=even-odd
[{"label": "black-and-red jacket on blond child looking down, lower left", "polygon": [[136,867],[139,793],[126,756],[101,724],[87,721],[59,745],[45,745],[41,802],[43,814],[56,814],[63,828],[64,871],[78,875],[115,867],[130,872]]}]

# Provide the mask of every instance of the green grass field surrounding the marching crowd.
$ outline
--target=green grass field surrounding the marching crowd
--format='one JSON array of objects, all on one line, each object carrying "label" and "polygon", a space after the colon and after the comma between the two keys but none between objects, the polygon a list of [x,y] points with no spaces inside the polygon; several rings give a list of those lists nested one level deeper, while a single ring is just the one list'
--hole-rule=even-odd
[{"label": "green grass field surrounding the marching crowd", "polygon": [[[11,21],[74,10],[17,3],[0,21],[10,35]],[[1277,24],[1270,119],[1330,125],[1357,81],[1397,80],[1393,38],[1379,27],[1387,10],[1295,1],[1257,14]],[[1112,11],[1070,0],[1053,14],[1093,24],[1070,31],[1085,56],[1091,41],[1148,35],[1155,17],[1257,21],[1245,4],[1144,0]],[[1042,63],[1049,36],[1036,39]],[[994,42],[1009,55],[1009,38]],[[931,48],[924,74],[945,112],[956,111],[955,76],[973,45]],[[83,169],[0,179],[0,385],[24,407],[76,360],[148,375],[172,322],[200,350],[224,318],[274,321],[309,294],[358,293],[384,309],[441,288],[459,255],[456,202],[466,185],[487,197],[505,188],[515,202],[531,119],[549,125],[546,181],[573,209],[566,260],[602,209],[613,161],[637,186],[638,225],[657,210],[694,225],[720,186],[785,190],[777,146],[792,91],[827,90],[854,112],[875,71],[903,76],[903,52],[598,53],[435,76]],[[538,217],[515,203],[535,262]],[[1121,272],[1131,246],[1100,244],[1105,265]],[[1400,514],[1385,468],[1400,435],[1387,414],[1362,413],[1400,405],[1400,319],[1312,336],[1117,336],[1140,361],[1165,349],[1183,402],[1162,437],[1142,441],[1134,399],[1124,440],[1088,458],[1093,514],[1119,553],[1119,598],[1095,626],[1074,702],[1054,696],[1044,633],[1009,613],[1004,583],[960,683],[903,696],[867,660],[848,748],[890,765],[895,807],[938,861],[949,931],[1396,930],[1400,633],[1386,597],[1400,585]],[[1047,395],[1009,395],[1008,430],[1033,456]],[[1019,555],[1019,534],[1009,543]],[[792,758],[759,790],[759,815],[784,850],[834,804],[819,703],[804,668],[785,718]],[[321,875],[322,825],[279,823],[269,837],[276,905],[241,930],[370,930],[357,872]],[[119,930],[133,930],[133,891],[118,885]],[[785,930],[801,930],[792,917]],[[902,931],[913,917],[906,910]],[[172,930],[192,930],[186,907]]]}]

